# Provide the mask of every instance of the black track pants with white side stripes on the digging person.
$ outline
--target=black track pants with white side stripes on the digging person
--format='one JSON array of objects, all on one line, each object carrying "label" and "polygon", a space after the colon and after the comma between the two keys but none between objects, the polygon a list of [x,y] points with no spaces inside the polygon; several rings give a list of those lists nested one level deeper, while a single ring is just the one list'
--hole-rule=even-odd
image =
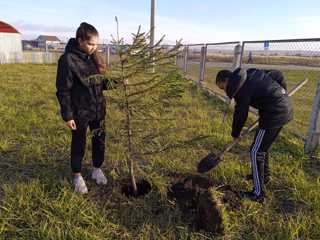
[{"label": "black track pants with white side stripes on the digging person", "polygon": [[[270,149],[272,143],[275,141],[279,135],[282,128],[275,129],[261,129],[259,128],[254,137],[254,141],[250,148],[250,157],[251,157],[251,169],[254,183],[254,193],[259,196],[263,192],[263,182],[261,179],[264,179],[264,176],[261,177],[261,166],[259,166],[259,161],[257,158],[262,156],[262,162],[264,166],[263,174],[269,172],[269,158],[268,150]],[[261,170],[262,171],[262,170]]]}]

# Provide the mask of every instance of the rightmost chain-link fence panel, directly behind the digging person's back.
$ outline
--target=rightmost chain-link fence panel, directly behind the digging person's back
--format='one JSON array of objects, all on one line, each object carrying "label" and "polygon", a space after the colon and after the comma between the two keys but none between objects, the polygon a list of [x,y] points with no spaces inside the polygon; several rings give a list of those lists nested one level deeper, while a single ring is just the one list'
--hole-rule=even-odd
[{"label": "rightmost chain-link fence panel, directly behind the digging person's back", "polygon": [[295,134],[305,138],[320,79],[320,39],[243,42],[241,67],[278,69],[283,72],[288,89],[308,79],[306,85],[292,97],[294,120],[288,126]]}]

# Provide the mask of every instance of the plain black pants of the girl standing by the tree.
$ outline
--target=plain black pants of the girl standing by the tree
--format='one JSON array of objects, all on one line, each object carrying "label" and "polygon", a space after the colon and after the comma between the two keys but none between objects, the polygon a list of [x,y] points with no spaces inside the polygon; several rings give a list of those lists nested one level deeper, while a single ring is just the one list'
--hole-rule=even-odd
[{"label": "plain black pants of the girl standing by the tree", "polygon": [[104,120],[77,121],[76,130],[72,130],[71,140],[71,169],[73,173],[81,172],[81,163],[86,148],[88,126],[92,132],[92,163],[99,168],[104,161],[105,152],[105,126]]}]

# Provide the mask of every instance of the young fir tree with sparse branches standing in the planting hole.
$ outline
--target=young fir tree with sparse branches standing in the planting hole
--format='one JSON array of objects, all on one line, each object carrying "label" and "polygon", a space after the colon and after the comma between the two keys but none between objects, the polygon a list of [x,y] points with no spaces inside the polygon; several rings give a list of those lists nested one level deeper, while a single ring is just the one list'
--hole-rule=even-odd
[{"label": "young fir tree with sparse branches standing in the planting hole", "polygon": [[177,145],[165,138],[176,131],[170,127],[170,106],[179,102],[185,89],[184,78],[176,66],[181,43],[168,49],[161,47],[163,37],[154,46],[150,46],[149,39],[149,34],[142,33],[139,27],[132,44],[126,45],[119,37],[117,22],[113,45],[118,61],[111,72],[119,86],[111,100],[123,114],[120,128],[124,131],[119,131],[122,136],[117,137],[125,139],[134,194],[137,194],[136,172],[146,158]]}]

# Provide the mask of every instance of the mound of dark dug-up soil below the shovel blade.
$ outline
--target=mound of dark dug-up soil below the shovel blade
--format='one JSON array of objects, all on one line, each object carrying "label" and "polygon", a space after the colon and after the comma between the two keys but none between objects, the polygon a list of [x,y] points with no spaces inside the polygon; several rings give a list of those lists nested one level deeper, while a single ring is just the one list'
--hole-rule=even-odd
[{"label": "mound of dark dug-up soil below the shovel blade", "polygon": [[[222,197],[215,199],[209,191],[212,187],[222,192]],[[224,232],[222,207],[239,210],[242,206],[239,193],[231,186],[215,184],[199,175],[177,178],[168,190],[168,197],[175,199],[185,214],[195,214],[196,228],[215,235],[222,235]]]}]

